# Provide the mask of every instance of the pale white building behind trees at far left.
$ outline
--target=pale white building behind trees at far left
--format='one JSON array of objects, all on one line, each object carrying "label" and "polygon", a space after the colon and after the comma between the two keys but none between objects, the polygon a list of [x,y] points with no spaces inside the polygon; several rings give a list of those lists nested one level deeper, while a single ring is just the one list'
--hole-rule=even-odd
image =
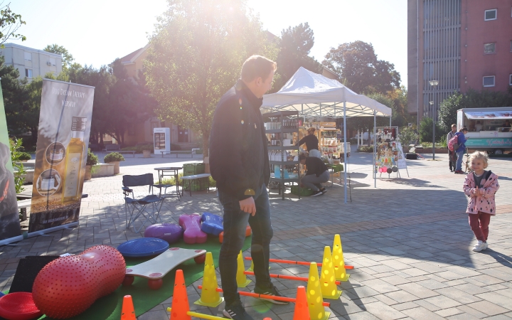
[{"label": "pale white building behind trees at far left", "polygon": [[20,46],[14,43],[4,43],[0,55],[4,55],[6,65],[14,65],[20,78],[29,81],[37,76],[44,77],[46,73],[58,75],[62,70],[62,55]]}]

